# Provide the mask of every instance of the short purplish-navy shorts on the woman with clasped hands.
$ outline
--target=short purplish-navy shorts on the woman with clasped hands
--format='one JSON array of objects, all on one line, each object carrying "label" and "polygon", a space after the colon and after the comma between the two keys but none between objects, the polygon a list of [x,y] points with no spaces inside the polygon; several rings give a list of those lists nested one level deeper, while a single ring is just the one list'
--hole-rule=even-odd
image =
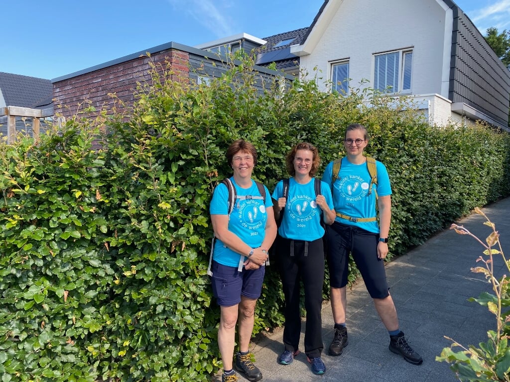
[{"label": "short purplish-navy shorts on the woman with clasped hands", "polygon": [[253,299],[260,297],[266,273],[265,266],[248,270],[243,268],[240,272],[237,266],[226,266],[213,260],[211,270],[213,295],[219,306],[237,305],[241,302],[241,295]]}]

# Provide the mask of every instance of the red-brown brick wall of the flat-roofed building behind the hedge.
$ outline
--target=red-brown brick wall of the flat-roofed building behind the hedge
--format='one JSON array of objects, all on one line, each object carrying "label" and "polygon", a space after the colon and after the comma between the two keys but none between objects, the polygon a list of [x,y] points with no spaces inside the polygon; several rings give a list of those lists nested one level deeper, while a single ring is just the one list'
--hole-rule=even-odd
[{"label": "red-brown brick wall of the flat-roofed building behind the hedge", "polygon": [[150,62],[158,70],[172,72],[174,80],[189,80],[189,53],[177,49],[141,56],[95,71],[79,74],[53,83],[55,114],[65,118],[75,115],[79,108],[94,106],[111,110],[115,93],[126,104],[132,104],[137,83],[150,82]]}]

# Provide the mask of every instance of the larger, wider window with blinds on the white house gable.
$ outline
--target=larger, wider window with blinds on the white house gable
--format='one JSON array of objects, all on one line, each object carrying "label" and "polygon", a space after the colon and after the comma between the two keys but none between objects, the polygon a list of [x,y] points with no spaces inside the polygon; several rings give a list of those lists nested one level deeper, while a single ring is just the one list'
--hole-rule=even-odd
[{"label": "larger, wider window with blinds on the white house gable", "polygon": [[374,60],[374,88],[388,93],[411,93],[413,51],[377,54]]}]

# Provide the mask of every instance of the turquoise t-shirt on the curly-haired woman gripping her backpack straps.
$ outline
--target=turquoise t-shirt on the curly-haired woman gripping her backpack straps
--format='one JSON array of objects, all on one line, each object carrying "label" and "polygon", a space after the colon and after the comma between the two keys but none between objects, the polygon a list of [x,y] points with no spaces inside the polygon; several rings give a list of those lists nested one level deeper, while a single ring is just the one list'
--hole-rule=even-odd
[{"label": "turquoise t-shirt on the curly-haired woman gripping her backpack straps", "polygon": [[[331,189],[321,181],[321,194],[329,208],[333,208]],[[281,180],[274,188],[272,198],[278,200],[284,196],[284,181]],[[315,203],[315,180],[307,184],[299,184],[294,178],[289,180],[289,195],[283,210],[282,224],[278,234],[287,239],[313,241],[324,236],[321,226],[322,210]]]}]

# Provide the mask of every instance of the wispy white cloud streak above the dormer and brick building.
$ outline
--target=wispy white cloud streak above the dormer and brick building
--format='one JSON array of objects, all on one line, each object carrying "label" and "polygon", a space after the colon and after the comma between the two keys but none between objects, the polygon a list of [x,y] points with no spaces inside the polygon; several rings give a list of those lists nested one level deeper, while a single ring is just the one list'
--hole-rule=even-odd
[{"label": "wispy white cloud streak above the dormer and brick building", "polygon": [[233,35],[233,22],[226,12],[232,6],[229,1],[168,0],[174,9],[186,12],[199,24],[209,29],[215,38]]}]

